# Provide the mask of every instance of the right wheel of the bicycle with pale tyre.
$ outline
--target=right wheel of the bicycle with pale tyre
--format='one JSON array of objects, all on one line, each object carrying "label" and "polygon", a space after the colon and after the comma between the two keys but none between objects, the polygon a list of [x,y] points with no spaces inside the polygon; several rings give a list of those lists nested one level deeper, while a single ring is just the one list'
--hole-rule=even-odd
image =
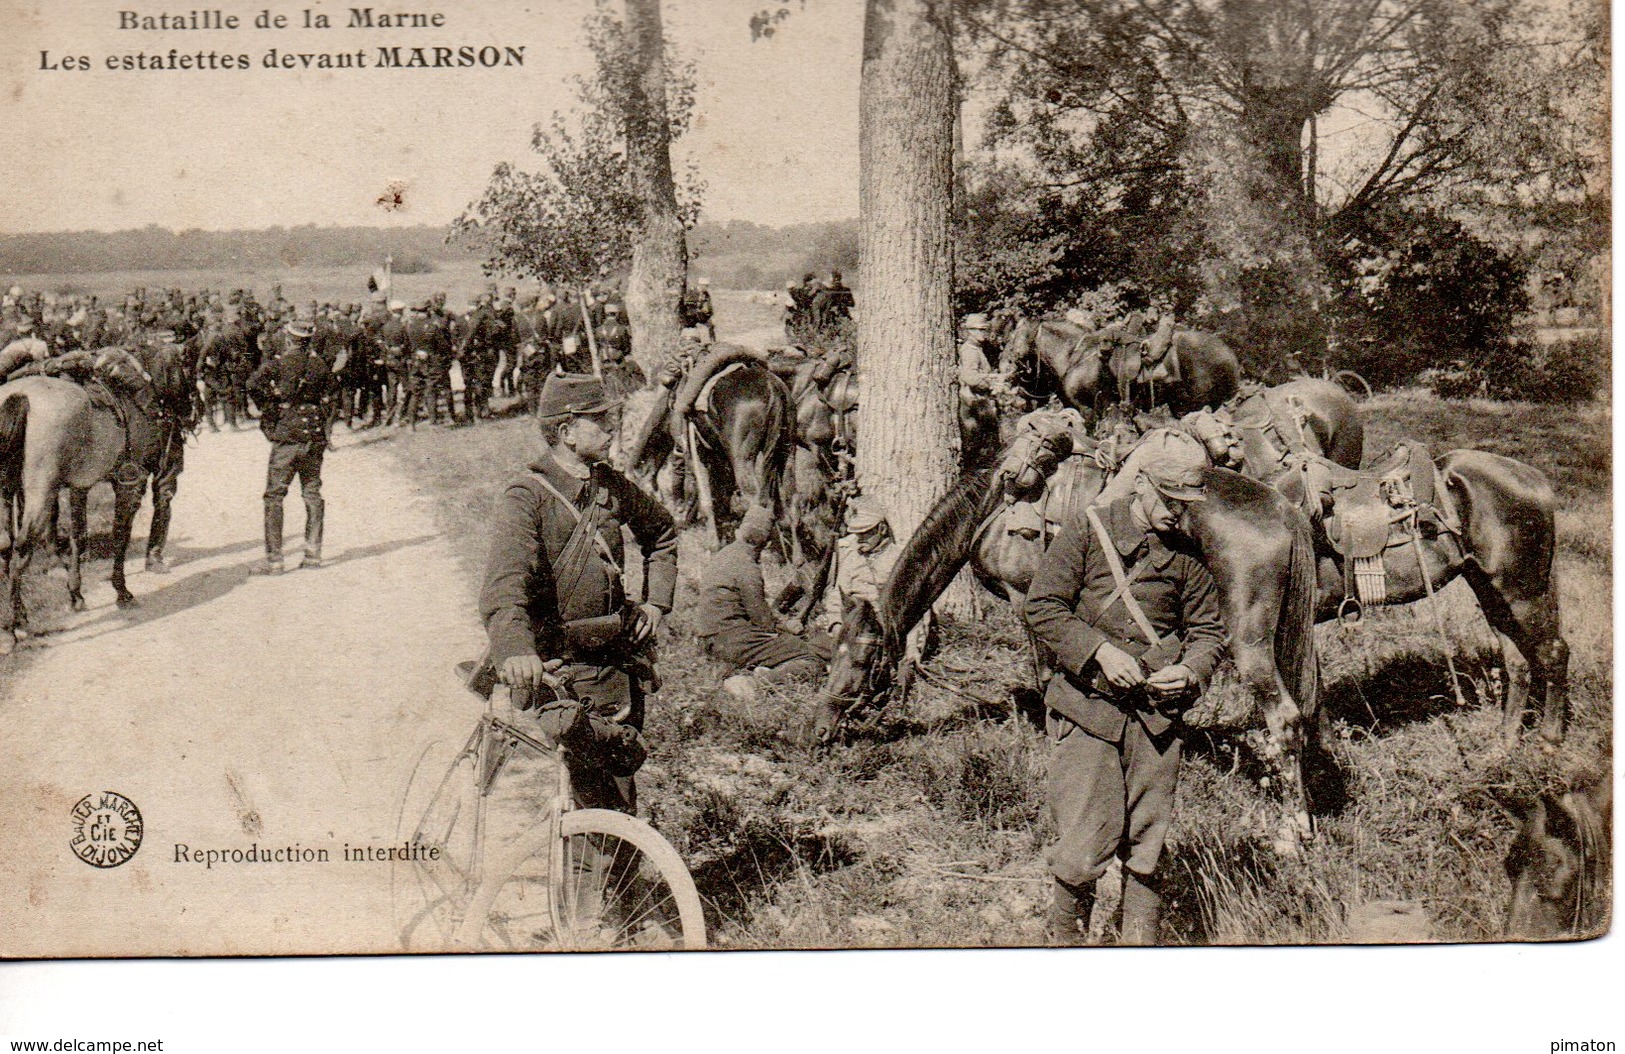
[{"label": "right wheel of the bicycle with pale tyre", "polygon": [[564,814],[479,885],[458,945],[488,952],[705,947],[705,914],[678,851],[637,817]]}]

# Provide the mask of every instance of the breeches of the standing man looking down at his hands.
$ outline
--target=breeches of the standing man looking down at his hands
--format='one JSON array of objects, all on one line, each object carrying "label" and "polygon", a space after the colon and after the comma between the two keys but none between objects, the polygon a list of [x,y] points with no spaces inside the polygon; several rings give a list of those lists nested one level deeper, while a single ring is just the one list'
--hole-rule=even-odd
[{"label": "breeches of the standing man looking down at his hands", "polygon": [[1123,742],[1113,744],[1055,711],[1050,734],[1050,815],[1058,832],[1050,872],[1082,885],[1116,856],[1134,874],[1154,875],[1173,819],[1183,741],[1172,731],[1152,739],[1129,719]]}]

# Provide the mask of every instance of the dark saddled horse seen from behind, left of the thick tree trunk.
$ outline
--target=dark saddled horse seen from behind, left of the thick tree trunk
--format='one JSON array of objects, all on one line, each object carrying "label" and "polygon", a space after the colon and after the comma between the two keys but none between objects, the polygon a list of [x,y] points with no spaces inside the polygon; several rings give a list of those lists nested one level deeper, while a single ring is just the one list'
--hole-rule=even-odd
[{"label": "dark saddled horse seen from behind, left of the thick tree trunk", "polygon": [[660,393],[627,463],[653,476],[674,450],[684,451],[715,549],[733,539],[748,507],[764,505],[777,518],[790,438],[790,393],[765,356],[717,344]]}]

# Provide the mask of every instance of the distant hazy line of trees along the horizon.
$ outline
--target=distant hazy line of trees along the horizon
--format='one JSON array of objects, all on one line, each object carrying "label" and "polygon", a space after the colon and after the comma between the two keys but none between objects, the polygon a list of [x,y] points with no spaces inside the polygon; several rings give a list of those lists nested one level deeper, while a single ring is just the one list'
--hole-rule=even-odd
[{"label": "distant hazy line of trees along the horizon", "polygon": [[[436,263],[466,260],[468,250],[447,244],[447,227],[270,227],[266,231],[57,231],[0,234],[0,278],[93,271],[206,271],[297,266],[372,270],[385,255],[403,274],[432,271]],[[765,227],[754,222],[702,222],[689,232],[691,278],[725,289],[782,289],[790,279],[830,268],[848,284],[858,270],[858,221]]]}]

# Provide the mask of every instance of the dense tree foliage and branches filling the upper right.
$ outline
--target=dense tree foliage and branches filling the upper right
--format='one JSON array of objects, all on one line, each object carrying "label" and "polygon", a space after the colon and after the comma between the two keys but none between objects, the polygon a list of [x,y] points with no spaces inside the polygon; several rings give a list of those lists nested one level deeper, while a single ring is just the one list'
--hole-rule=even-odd
[{"label": "dense tree foliage and branches filling the upper right", "polygon": [[[1588,205],[1606,200],[1594,2],[967,0],[960,11],[996,91],[994,161],[960,210],[965,307],[1060,305],[1110,283],[1126,307],[1162,302],[1225,331],[1264,375],[1315,369],[1328,346],[1342,354],[1373,333],[1401,338],[1402,359],[1438,359],[1462,339],[1505,341],[1532,253],[1566,244],[1573,260],[1606,239]],[[1445,231],[1471,237],[1451,252]],[[1427,281],[1373,286],[1360,271],[1373,248],[1424,245],[1430,263],[1406,266]],[[1506,296],[1438,300],[1462,281]],[[1448,320],[1448,349],[1404,338],[1419,317]]]}]

